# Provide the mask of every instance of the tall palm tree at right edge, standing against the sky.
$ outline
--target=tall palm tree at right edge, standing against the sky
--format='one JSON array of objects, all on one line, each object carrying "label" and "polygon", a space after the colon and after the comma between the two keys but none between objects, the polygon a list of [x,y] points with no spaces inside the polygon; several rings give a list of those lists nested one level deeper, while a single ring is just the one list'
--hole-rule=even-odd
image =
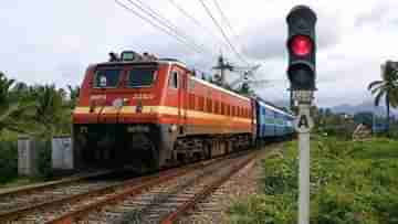
[{"label": "tall palm tree at right edge, standing against the sky", "polygon": [[389,130],[390,106],[398,106],[398,70],[395,63],[387,61],[381,65],[381,81],[374,81],[368,89],[375,95],[375,106],[378,106],[380,99],[385,97],[387,108],[387,130]]}]

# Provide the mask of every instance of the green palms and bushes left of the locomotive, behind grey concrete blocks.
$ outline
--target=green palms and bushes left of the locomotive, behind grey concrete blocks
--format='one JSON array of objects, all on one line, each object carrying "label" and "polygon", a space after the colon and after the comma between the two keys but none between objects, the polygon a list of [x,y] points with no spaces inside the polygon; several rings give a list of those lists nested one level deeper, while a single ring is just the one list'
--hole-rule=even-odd
[{"label": "green palms and bushes left of the locomotive, behind grey concrete blocks", "polygon": [[[18,175],[19,135],[50,139],[71,132],[71,115],[80,88],[67,86],[67,89],[69,93],[55,85],[28,85],[0,72],[0,183]],[[49,142],[43,140],[40,145],[40,173],[51,177]]]}]

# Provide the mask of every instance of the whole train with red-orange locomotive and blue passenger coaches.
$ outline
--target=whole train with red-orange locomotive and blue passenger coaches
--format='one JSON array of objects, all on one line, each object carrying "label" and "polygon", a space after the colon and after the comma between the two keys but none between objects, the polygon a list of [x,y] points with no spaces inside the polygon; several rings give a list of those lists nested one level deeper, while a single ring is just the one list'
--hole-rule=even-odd
[{"label": "whole train with red-orange locomotive and blue passenger coaches", "polygon": [[294,116],[196,77],[182,62],[124,51],[90,65],[73,111],[76,168],[139,171],[210,159],[294,134]]}]

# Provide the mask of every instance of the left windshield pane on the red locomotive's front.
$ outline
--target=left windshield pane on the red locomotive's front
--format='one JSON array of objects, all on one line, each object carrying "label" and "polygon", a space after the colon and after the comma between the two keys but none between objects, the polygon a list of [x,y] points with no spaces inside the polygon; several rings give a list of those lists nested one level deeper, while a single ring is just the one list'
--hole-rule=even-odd
[{"label": "left windshield pane on the red locomotive's front", "polygon": [[109,88],[116,87],[119,81],[122,70],[118,68],[103,68],[95,73],[94,87]]}]

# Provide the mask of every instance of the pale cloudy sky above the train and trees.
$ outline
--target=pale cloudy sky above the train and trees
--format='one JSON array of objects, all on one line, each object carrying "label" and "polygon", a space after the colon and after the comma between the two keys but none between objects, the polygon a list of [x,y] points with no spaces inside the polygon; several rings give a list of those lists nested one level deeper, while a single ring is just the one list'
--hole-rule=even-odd
[{"label": "pale cloudy sky above the train and trees", "polygon": [[[106,61],[111,51],[148,51],[202,71],[210,70],[220,52],[230,62],[242,64],[200,0],[119,1],[136,11],[140,10],[132,2],[155,9],[181,36],[188,36],[190,44],[165,34],[115,0],[4,1],[0,9],[0,71],[30,84],[62,87],[80,85],[87,65]],[[285,15],[295,4],[310,6],[318,17],[318,105],[359,104],[369,98],[366,86],[380,78],[380,63],[397,60],[397,0],[217,0],[232,29],[213,0],[203,1],[242,57],[262,65],[258,79],[272,82],[256,92],[269,100],[289,98]],[[193,51],[192,42],[202,52]]]}]

